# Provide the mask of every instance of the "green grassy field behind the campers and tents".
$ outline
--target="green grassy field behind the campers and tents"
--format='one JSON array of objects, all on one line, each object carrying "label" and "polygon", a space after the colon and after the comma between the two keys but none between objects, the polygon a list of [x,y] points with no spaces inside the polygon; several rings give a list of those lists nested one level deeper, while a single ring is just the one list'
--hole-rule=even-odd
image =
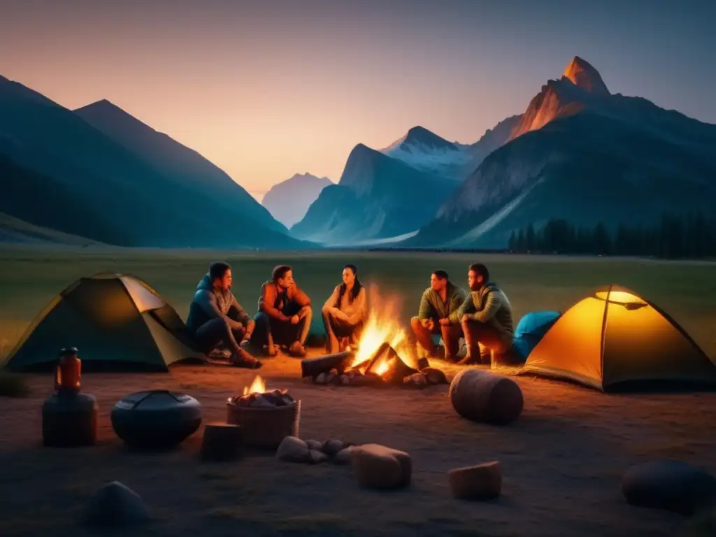
[{"label": "green grassy field behind the campers and tents", "polygon": [[[234,292],[253,314],[258,291],[279,263],[294,266],[298,284],[323,304],[340,283],[344,263],[359,267],[364,283],[402,299],[401,318],[417,312],[430,272],[444,269],[465,286],[468,263],[486,263],[508,294],[516,321],[528,311],[564,311],[590,289],[621,284],[669,312],[711,357],[716,356],[716,264],[616,258],[567,258],[454,253],[220,253],[158,251],[0,251],[0,360],[47,302],[80,276],[100,271],[135,274],[153,285],[186,318],[208,263],[225,259],[234,274]],[[314,315],[314,330],[322,331]]]}]

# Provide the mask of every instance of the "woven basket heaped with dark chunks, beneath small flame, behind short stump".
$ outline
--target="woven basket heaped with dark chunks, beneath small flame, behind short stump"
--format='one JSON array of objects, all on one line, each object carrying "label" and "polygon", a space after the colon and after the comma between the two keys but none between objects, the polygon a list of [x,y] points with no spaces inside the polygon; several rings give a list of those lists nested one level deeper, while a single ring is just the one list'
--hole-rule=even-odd
[{"label": "woven basket heaped with dark chunks, beneath small flame, behind short stump", "polygon": [[226,422],[241,425],[244,445],[275,450],[287,436],[299,436],[301,401],[286,390],[230,397]]}]

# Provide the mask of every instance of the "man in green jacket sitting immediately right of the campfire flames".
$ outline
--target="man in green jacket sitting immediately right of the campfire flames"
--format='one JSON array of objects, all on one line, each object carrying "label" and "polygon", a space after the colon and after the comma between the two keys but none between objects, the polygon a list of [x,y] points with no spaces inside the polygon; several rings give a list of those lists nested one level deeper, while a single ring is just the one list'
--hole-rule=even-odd
[{"label": "man in green jacket sitting immediately right of the campfire flames", "polygon": [[435,356],[437,348],[432,342],[432,334],[441,334],[445,342],[445,359],[455,361],[458,356],[459,341],[463,331],[459,323],[445,323],[450,314],[465,301],[465,291],[448,279],[445,271],[435,271],[430,275],[430,287],[420,299],[417,317],[410,319],[415,339],[430,356]]}]

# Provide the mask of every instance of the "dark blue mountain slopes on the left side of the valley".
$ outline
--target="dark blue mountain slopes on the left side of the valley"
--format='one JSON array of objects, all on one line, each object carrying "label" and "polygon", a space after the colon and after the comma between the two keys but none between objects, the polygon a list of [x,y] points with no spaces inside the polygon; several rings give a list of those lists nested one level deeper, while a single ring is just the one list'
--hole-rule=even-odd
[{"label": "dark blue mountain slopes on the left side of the valley", "polygon": [[72,111],[0,77],[0,212],[118,246],[304,248],[246,190],[107,101]]}]

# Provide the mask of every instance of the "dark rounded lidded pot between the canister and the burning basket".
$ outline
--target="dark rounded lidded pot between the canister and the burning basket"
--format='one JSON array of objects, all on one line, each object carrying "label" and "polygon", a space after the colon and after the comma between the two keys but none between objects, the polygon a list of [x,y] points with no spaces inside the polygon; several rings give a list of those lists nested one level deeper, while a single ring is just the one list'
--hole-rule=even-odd
[{"label": "dark rounded lidded pot between the canister and the burning basket", "polygon": [[112,428],[132,448],[174,448],[199,428],[201,405],[193,397],[168,390],[137,392],[112,408]]}]

